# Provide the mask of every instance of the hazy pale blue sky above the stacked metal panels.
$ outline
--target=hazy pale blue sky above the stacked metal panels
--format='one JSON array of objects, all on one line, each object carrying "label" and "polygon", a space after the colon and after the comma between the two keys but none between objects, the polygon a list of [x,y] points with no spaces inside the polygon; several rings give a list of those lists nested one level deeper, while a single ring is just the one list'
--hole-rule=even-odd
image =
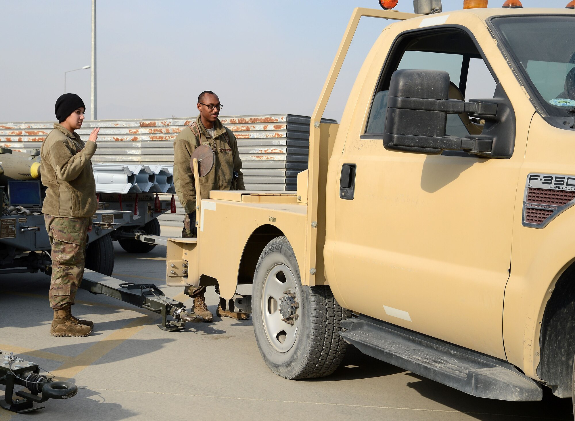
[{"label": "hazy pale blue sky above the stacked metal panels", "polygon": [[[504,0],[489,0],[500,7]],[[565,7],[568,0],[523,0]],[[443,1],[443,10],[463,0]],[[213,90],[222,115],[310,115],[354,7],[374,0],[97,0],[98,118],[196,115]],[[397,7],[413,12],[411,0]],[[64,71],[90,65],[90,0],[0,0],[0,121],[53,120]],[[388,21],[364,19],[325,117],[340,119]],[[67,75],[90,106],[90,70]],[[90,112],[90,110],[87,110]]]}]

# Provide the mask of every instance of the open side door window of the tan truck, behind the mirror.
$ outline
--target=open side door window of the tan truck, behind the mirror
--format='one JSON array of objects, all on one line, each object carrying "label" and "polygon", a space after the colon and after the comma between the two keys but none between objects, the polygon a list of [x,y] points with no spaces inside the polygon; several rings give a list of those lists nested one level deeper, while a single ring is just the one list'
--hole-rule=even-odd
[{"label": "open side door window of the tan truck, behind the mirror", "polygon": [[[394,50],[382,70],[367,119],[366,134],[384,132],[389,80],[396,70],[447,71],[450,98],[493,98],[496,82],[473,40],[461,30],[441,29],[410,33],[408,36],[398,37]],[[482,125],[471,122],[465,113],[447,115],[446,135],[463,137],[479,134],[481,130]]]}]

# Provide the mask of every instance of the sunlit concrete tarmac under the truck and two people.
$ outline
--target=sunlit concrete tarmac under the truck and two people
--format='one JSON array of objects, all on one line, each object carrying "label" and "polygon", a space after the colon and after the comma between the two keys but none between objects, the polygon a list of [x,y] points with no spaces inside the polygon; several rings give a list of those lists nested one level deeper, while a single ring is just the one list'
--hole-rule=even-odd
[{"label": "sunlit concrete tarmac under the truck and two people", "polygon": [[[162,227],[163,235],[179,229]],[[125,252],[117,243],[114,276],[156,283],[168,295],[191,300],[164,284],[166,248]],[[240,293],[250,294],[251,286]],[[79,290],[73,312],[94,321],[88,337],[52,337],[49,278],[0,277],[0,350],[39,363],[70,379],[78,395],[49,400],[32,414],[0,408],[0,421],[16,420],[572,420],[571,400],[546,391],[543,401],[512,403],[466,395],[348,348],[332,376],[292,381],[267,369],[251,320],[214,317],[164,332],[154,313]],[[214,314],[213,287],[206,300]],[[0,398],[3,392],[0,386]]]}]

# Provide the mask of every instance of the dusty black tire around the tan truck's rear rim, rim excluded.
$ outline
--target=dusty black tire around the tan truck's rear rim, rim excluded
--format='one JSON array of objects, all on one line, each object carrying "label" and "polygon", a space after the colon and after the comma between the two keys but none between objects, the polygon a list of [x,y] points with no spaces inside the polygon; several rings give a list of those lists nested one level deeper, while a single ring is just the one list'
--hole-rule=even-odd
[{"label": "dusty black tire around the tan truck's rear rim, rim excluded", "polygon": [[[264,326],[264,317],[270,317],[274,312],[270,311],[270,304],[266,304],[269,298],[264,302],[262,297],[266,279],[283,265],[289,268],[296,280],[294,299],[298,304],[298,326],[293,346],[279,352],[273,345],[274,338],[266,333]],[[296,256],[286,237],[274,238],[263,249],[254,274],[253,296],[255,338],[271,371],[281,377],[300,379],[328,376],[338,368],[347,346],[339,335],[340,322],[350,313],[335,301],[329,287],[301,285]]]}]

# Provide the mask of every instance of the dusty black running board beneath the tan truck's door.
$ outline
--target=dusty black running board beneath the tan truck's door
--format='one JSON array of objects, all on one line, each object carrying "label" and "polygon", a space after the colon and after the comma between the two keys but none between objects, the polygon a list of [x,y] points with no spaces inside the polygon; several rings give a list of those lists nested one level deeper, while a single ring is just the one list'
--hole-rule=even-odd
[{"label": "dusty black running board beneath the tan truck's door", "polygon": [[364,354],[469,395],[539,401],[541,386],[506,361],[367,316],[342,320],[343,339]]}]

